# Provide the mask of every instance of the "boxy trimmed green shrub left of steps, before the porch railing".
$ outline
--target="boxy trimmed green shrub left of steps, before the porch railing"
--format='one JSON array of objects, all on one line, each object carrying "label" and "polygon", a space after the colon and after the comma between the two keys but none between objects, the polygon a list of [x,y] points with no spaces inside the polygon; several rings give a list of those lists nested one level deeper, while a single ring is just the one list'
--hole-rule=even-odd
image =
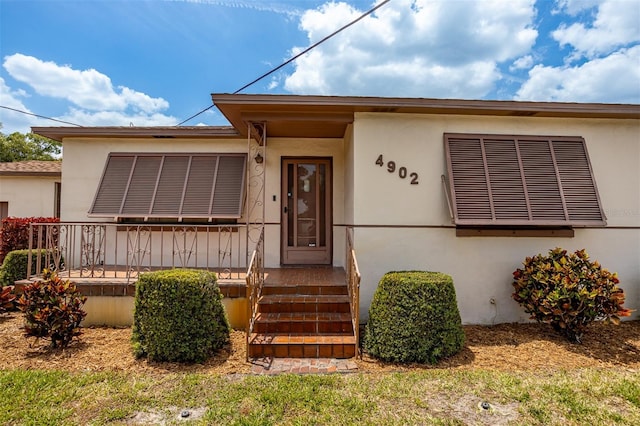
[{"label": "boxy trimmed green shrub left of steps, before the porch railing", "polygon": [[203,362],[229,341],[214,273],[173,269],[136,285],[133,351],[152,361]]}]

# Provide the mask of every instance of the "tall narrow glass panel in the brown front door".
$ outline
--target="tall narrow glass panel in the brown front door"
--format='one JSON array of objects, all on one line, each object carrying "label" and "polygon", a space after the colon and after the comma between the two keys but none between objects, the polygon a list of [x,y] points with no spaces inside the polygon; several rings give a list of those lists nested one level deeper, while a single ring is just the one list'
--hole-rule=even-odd
[{"label": "tall narrow glass panel in the brown front door", "polygon": [[298,247],[316,247],[318,191],[316,165],[299,163],[297,168],[297,235]]}]

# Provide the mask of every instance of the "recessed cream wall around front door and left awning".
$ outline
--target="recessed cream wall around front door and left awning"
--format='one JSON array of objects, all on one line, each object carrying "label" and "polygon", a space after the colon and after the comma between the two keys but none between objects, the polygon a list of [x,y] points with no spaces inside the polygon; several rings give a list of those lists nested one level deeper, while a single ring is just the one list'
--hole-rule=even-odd
[{"label": "recessed cream wall around front door and left awning", "polygon": [[[61,220],[111,222],[87,215],[111,152],[247,152],[243,139],[183,140],[69,138],[64,140]],[[268,139],[265,155],[265,266],[280,265],[280,175],[282,157],[330,157],[333,163],[333,259],[344,264],[344,147],[342,139]],[[249,158],[248,167],[253,165]],[[275,197],[275,201],[274,201]],[[248,200],[248,205],[254,203]],[[241,219],[239,223],[243,223]],[[243,240],[242,238],[240,240]],[[170,242],[169,242],[170,244]],[[124,247],[124,246],[123,246]],[[158,251],[158,250],[156,250]],[[164,250],[171,253],[171,249]]]}]

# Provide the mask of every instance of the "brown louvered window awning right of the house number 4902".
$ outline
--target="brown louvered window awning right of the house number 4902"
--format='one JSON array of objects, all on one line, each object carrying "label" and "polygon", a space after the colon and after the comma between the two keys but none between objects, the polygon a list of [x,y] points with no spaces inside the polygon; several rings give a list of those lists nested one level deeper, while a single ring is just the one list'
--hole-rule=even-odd
[{"label": "brown louvered window awning right of the house number 4902", "polygon": [[581,137],[445,134],[456,225],[604,226]]}]

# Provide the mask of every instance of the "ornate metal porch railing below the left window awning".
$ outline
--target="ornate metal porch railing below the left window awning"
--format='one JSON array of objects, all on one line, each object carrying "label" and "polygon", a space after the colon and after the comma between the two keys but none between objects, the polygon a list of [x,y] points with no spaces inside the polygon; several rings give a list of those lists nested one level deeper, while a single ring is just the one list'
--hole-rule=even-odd
[{"label": "ornate metal porch railing below the left window awning", "polygon": [[[61,277],[137,279],[142,272],[199,268],[220,279],[243,278],[246,225],[32,223],[27,277],[44,268]],[[34,237],[35,236],[35,237]],[[43,256],[34,256],[44,251]]]}]

